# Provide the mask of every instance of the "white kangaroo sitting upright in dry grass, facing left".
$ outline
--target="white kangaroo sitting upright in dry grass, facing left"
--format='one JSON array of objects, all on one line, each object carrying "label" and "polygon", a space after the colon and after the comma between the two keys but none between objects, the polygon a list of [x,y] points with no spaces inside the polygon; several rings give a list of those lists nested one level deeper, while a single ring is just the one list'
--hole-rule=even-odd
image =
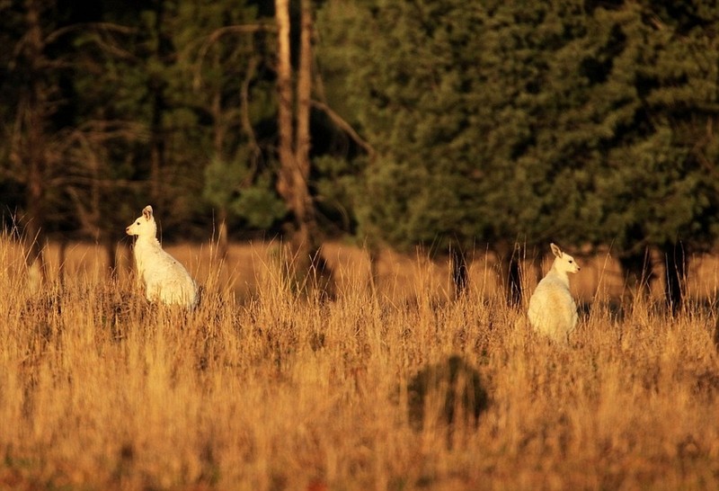
[{"label": "white kangaroo sitting upright in dry grass, facing left", "polygon": [[135,264],[145,283],[145,295],[151,302],[193,308],[197,304],[197,287],[190,273],[157,240],[157,224],[152,207],[147,205],[142,215],[125,229],[135,241]]}]

